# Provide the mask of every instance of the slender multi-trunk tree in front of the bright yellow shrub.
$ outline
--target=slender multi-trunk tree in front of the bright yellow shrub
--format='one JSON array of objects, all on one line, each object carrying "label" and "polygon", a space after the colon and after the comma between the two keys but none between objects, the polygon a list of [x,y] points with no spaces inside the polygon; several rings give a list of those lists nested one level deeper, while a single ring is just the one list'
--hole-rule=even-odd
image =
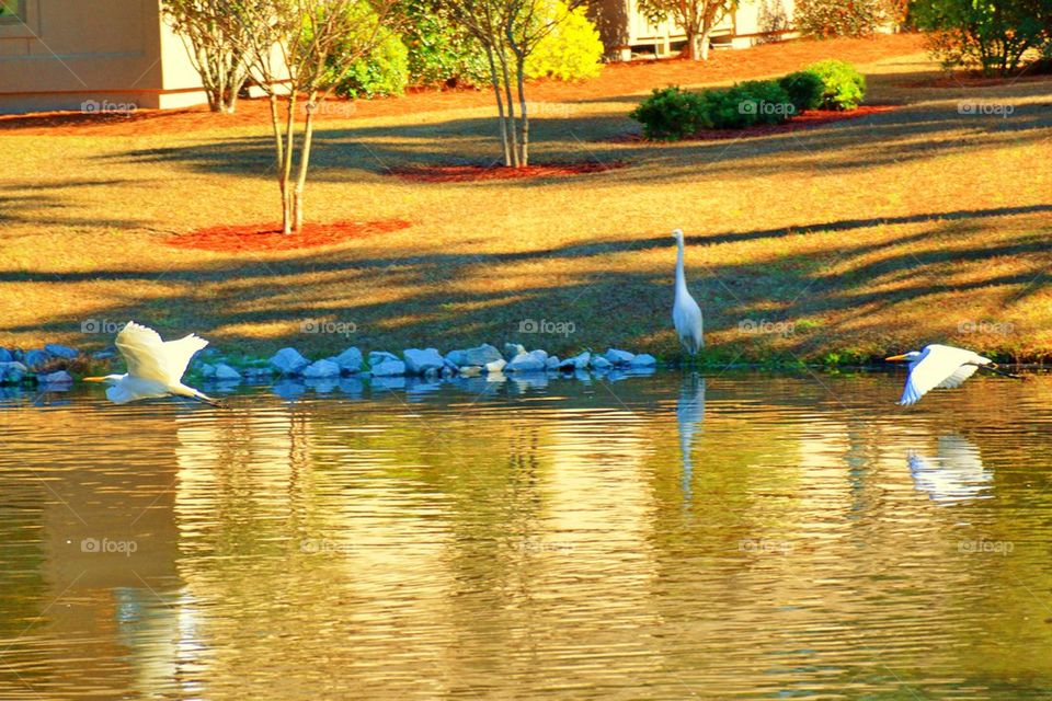
[{"label": "slender multi-trunk tree in front of the bright yellow shrub", "polygon": [[[458,21],[479,42],[490,66],[504,164],[529,165],[526,61],[537,45],[584,0],[447,0]],[[517,96],[512,93],[514,80]]]}]

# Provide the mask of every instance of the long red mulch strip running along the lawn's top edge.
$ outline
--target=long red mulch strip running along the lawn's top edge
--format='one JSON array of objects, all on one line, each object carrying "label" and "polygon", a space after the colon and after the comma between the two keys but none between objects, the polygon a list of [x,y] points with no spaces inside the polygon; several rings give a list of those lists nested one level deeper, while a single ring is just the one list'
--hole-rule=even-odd
[{"label": "long red mulch strip running along the lawn's top edge", "polygon": [[[923,38],[915,34],[823,42],[801,39],[765,44],[744,50],[716,51],[704,62],[674,58],[610,64],[603,67],[598,78],[592,80],[530,82],[529,99],[534,102],[554,103],[594,101],[647,93],[653,88],[668,84],[696,85],[788,73],[823,58],[836,57],[853,64],[867,64],[922,51]],[[489,89],[415,90],[404,97],[358,100],[354,103],[327,101],[316,113],[316,118],[324,123],[402,116],[491,106],[492,101],[493,93]],[[299,111],[297,120],[301,120],[304,115],[305,113]],[[10,130],[26,136],[147,136],[245,126],[270,128],[270,104],[266,100],[241,100],[238,102],[237,113],[231,115],[216,115],[208,112],[207,107],[191,107],[138,110],[128,115],[50,112],[0,116],[0,131]]]}]

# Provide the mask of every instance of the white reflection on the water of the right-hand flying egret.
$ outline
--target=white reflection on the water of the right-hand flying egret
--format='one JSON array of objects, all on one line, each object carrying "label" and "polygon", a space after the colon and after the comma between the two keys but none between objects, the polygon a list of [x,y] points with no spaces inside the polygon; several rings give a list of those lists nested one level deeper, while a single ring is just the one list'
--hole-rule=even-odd
[{"label": "white reflection on the water of the right-hand flying egret", "polygon": [[993,472],[983,467],[979,446],[963,436],[939,436],[934,457],[911,451],[906,462],[914,485],[933,502],[951,505],[993,496]]}]

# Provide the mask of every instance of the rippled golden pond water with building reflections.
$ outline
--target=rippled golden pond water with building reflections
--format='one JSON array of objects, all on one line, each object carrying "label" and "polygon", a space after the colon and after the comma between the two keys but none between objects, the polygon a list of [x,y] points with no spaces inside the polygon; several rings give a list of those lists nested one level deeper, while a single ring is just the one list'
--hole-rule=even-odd
[{"label": "rippled golden pond water with building reflections", "polygon": [[1048,699],[1052,378],[0,404],[3,699]]}]

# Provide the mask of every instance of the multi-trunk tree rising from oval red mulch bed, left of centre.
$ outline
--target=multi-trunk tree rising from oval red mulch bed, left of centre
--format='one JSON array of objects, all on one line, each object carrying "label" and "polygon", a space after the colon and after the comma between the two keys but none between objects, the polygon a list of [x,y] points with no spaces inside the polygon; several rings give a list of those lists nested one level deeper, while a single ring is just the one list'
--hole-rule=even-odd
[{"label": "multi-trunk tree rising from oval red mulch bed, left of centre", "polygon": [[[396,20],[391,12],[396,1],[249,0],[236,12],[248,36],[250,72],[271,103],[284,233],[304,226],[304,189],[318,106],[353,62],[376,48],[382,38],[380,28],[391,27]],[[296,123],[300,100],[306,114],[301,134]]]}]

